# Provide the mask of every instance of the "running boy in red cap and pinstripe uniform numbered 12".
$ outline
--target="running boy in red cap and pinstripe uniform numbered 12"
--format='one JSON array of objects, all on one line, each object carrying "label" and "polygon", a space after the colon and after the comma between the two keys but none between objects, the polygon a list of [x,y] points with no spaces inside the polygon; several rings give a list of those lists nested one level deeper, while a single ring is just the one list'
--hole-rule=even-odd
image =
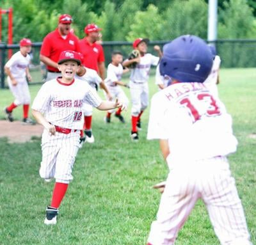
[{"label": "running boy in red cap and pinstripe uniform numbered 12", "polygon": [[62,77],[45,83],[32,106],[33,116],[44,126],[40,176],[45,180],[56,179],[51,205],[46,209],[45,225],[56,224],[60,203],[73,179],[72,168],[84,123],[84,102],[105,111],[122,107],[117,100],[102,101],[89,84],[74,78],[80,65],[79,53],[61,52],[58,69]]}]

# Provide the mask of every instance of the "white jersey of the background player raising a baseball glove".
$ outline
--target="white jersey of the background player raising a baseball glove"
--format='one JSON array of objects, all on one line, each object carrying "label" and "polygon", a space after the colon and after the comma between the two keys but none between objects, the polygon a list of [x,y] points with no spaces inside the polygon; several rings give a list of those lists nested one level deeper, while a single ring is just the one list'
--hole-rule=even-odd
[{"label": "white jersey of the background player raising a baseball glove", "polygon": [[131,69],[131,81],[135,83],[147,83],[151,65],[157,65],[159,57],[152,54],[141,56],[140,63]]}]

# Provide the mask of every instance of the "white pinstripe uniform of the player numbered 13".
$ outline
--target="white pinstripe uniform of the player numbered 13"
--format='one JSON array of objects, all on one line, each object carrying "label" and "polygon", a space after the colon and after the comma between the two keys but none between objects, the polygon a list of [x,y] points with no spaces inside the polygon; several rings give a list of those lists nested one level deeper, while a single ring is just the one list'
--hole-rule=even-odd
[{"label": "white pinstripe uniform of the player numbered 13", "polygon": [[148,139],[168,140],[170,169],[148,244],[174,244],[202,198],[221,244],[251,244],[227,155],[236,152],[232,118],[202,83],[176,83],[152,97]]}]

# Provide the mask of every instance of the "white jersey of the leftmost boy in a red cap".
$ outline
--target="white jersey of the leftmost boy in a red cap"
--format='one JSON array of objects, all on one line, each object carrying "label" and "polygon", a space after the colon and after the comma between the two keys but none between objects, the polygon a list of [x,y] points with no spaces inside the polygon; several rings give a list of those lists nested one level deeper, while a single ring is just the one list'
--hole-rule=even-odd
[{"label": "white jersey of the leftmost boy in a red cap", "polygon": [[24,78],[23,80],[19,80],[19,83],[26,83],[26,68],[29,66],[29,61],[29,54],[27,54],[25,57],[19,51],[13,54],[13,56],[7,61],[5,66],[10,68],[10,72],[15,79]]}]

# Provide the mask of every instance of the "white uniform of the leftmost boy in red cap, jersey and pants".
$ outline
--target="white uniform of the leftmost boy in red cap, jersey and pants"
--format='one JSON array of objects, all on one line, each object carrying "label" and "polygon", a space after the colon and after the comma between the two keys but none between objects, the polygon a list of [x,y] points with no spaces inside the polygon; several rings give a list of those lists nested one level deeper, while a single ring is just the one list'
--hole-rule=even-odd
[{"label": "white uniform of the leftmost boy in red cap, jersey and pants", "polygon": [[20,51],[15,52],[7,61],[6,67],[10,68],[10,72],[17,81],[17,85],[13,86],[10,77],[7,77],[7,82],[10,90],[15,97],[14,103],[19,106],[22,104],[30,104],[30,93],[28,83],[26,81],[26,68],[29,66],[29,54],[23,56]]}]

